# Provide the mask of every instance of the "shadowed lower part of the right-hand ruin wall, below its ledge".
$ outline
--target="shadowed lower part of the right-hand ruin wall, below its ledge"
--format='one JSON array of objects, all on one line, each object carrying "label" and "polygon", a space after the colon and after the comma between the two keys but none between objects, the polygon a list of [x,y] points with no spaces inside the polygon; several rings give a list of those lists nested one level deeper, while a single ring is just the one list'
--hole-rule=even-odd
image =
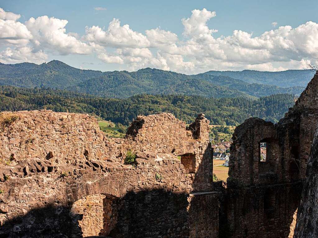
[{"label": "shadowed lower part of the right-hand ruin wall, below its ledge", "polygon": [[288,237],[301,183],[227,188],[228,237]]}]

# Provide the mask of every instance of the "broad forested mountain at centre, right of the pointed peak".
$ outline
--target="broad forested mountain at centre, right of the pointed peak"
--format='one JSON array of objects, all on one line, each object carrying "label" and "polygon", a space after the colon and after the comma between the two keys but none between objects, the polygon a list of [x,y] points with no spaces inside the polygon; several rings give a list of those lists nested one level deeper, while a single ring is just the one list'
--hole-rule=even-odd
[{"label": "broad forested mountain at centre, right of the pointed peak", "polygon": [[127,98],[138,94],[182,94],[215,98],[251,97],[245,92],[218,86],[200,77],[150,68],[131,73],[107,72],[103,76],[88,79],[67,89],[112,98]]}]

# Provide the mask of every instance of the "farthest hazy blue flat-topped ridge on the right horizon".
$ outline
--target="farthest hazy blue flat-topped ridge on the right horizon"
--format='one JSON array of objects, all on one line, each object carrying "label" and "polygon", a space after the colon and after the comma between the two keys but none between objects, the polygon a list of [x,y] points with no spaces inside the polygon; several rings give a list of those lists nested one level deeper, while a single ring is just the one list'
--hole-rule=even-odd
[{"label": "farthest hazy blue flat-topped ridge on the right horizon", "polygon": [[286,70],[279,72],[243,70],[243,71],[208,71],[204,74],[228,76],[247,83],[270,84],[279,87],[306,87],[315,72],[313,70]]}]

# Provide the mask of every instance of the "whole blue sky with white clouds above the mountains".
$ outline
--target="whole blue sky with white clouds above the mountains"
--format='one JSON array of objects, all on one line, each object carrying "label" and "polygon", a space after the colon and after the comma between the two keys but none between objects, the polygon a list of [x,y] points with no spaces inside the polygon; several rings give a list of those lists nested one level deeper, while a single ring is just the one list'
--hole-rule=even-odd
[{"label": "whole blue sky with white clouds above the mountains", "polygon": [[318,64],[318,4],[0,0],[0,62],[185,74]]}]

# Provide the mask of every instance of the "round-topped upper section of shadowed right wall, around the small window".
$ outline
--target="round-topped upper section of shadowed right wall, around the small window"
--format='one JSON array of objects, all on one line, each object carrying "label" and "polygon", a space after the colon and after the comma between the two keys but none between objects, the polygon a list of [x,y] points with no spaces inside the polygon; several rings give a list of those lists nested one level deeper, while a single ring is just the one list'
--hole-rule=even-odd
[{"label": "round-topped upper section of shadowed right wall, around the small window", "polygon": [[[266,162],[260,161],[259,143],[263,141],[271,154]],[[263,175],[279,173],[276,166],[278,156],[277,133],[273,123],[250,118],[239,125],[233,134],[229,177],[245,186],[268,183],[271,178]]]}]

